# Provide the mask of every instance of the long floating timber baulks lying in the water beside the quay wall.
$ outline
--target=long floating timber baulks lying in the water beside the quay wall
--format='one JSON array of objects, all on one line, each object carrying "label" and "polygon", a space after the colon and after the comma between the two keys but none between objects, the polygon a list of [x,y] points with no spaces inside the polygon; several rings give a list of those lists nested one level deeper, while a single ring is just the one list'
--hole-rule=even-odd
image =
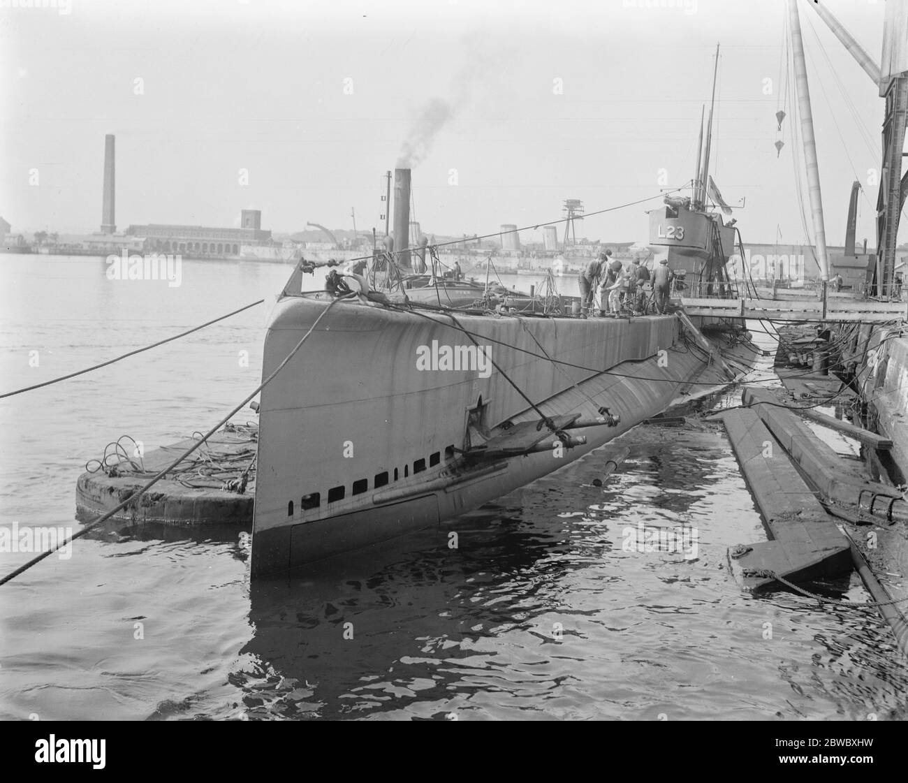
[{"label": "long floating timber baulks lying in the water beside the quay wall", "polygon": [[891,482],[871,480],[860,462],[840,456],[804,420],[863,443],[868,459],[888,454],[892,440],[798,411],[765,389],[745,388],[742,402],[711,418],[725,425],[769,540],[728,550],[735,580],[752,592],[799,589],[857,570],[872,597],[868,608],[879,610],[908,655],[908,501]]}]

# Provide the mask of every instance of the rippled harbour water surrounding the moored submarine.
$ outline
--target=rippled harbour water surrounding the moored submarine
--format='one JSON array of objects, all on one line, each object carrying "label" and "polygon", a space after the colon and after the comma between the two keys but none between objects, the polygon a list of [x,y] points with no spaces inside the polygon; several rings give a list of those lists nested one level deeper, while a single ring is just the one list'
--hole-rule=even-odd
[{"label": "rippled harbour water surrounding the moored submarine", "polygon": [[[261,379],[289,267],[187,261],[179,287],[105,269],[0,256],[0,392],[266,302],[0,401],[0,526],[77,530],[76,477],[109,441],[204,431]],[[248,530],[77,540],[0,587],[0,718],[906,718],[908,676],[875,614],[755,599],[729,578],[726,549],[764,534],[721,430],[638,427],[623,443],[604,486],[607,449],[291,580],[250,584]],[[656,529],[686,531],[686,549],[627,546]],[[29,557],[2,552],[0,570]],[[856,576],[838,587],[865,598]]]}]

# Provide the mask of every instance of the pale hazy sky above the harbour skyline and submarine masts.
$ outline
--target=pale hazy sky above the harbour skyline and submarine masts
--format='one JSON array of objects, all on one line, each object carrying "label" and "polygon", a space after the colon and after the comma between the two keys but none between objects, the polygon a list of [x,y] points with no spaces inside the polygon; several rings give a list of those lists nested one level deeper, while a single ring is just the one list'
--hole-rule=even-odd
[{"label": "pale hazy sky above the harbour skyline and submarine masts", "polygon": [[[856,178],[873,247],[883,99],[798,5],[827,242]],[[878,60],[883,0],[825,5]],[[353,211],[382,234],[383,175],[410,154],[424,233],[655,197],[577,227],[645,242],[646,209],[694,175],[719,44],[711,173],[745,242],[801,243],[784,19],[783,0],[0,0],[0,215],[97,231],[115,134],[121,230],[261,209],[276,233],[350,229]]]}]

